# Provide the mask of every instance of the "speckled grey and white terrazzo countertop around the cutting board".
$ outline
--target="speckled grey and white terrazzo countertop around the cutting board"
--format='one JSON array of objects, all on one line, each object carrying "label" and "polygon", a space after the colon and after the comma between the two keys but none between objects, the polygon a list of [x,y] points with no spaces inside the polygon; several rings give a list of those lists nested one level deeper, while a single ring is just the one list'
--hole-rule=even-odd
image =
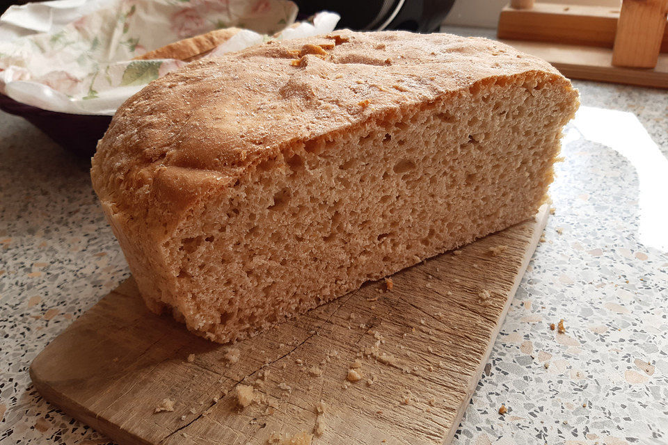
[{"label": "speckled grey and white terrazzo countertop around the cutting board", "polygon": [[[668,444],[668,93],[574,84],[555,213],[455,444]],[[108,443],[28,375],[129,276],[88,168],[0,113],[0,444]]]}]

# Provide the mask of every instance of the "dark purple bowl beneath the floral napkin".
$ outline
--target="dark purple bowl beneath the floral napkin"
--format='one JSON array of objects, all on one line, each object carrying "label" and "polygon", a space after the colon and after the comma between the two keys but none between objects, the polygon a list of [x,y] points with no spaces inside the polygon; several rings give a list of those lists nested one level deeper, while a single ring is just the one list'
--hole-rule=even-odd
[{"label": "dark purple bowl beneath the floral napkin", "polygon": [[104,136],[104,131],[111,122],[111,116],[42,110],[36,106],[16,102],[6,95],[0,95],[0,109],[21,116],[44,131],[61,147],[87,158],[95,154],[97,140]]}]

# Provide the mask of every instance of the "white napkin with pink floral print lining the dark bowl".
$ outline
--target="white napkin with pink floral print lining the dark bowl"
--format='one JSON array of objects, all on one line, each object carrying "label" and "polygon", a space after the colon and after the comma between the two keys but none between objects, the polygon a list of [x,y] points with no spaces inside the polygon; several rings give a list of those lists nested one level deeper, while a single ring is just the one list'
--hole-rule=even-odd
[{"label": "white napkin with pink floral print lining the dark bowl", "polygon": [[[88,13],[90,0],[55,0],[12,7],[0,17],[0,92],[51,111],[113,115],[146,83],[186,65],[133,58],[229,26],[246,31],[211,56],[236,51],[282,31],[297,14],[287,0],[93,1],[97,8]],[[73,19],[63,24],[63,17]],[[312,24],[285,30],[278,38],[327,33],[338,19],[320,13]]]}]

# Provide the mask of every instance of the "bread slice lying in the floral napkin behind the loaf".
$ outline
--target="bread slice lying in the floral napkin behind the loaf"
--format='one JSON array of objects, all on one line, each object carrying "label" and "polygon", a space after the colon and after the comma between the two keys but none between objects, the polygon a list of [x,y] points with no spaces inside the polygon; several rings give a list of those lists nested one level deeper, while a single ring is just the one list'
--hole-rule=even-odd
[{"label": "bread slice lying in the floral napkin behind the loaf", "polygon": [[189,39],[179,40],[164,47],[148,51],[137,60],[149,60],[154,58],[175,58],[190,62],[209,54],[219,44],[227,42],[232,36],[241,31],[239,28],[216,29],[206,34],[196,35]]}]

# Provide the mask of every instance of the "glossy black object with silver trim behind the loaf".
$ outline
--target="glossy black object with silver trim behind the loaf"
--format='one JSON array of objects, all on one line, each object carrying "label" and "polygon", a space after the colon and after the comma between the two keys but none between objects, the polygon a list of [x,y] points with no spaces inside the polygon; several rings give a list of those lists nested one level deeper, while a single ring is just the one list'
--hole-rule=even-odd
[{"label": "glossy black object with silver trim behind the loaf", "polygon": [[382,31],[403,29],[419,33],[438,31],[454,0],[293,0],[300,17],[321,10],[338,13],[338,29]]}]

